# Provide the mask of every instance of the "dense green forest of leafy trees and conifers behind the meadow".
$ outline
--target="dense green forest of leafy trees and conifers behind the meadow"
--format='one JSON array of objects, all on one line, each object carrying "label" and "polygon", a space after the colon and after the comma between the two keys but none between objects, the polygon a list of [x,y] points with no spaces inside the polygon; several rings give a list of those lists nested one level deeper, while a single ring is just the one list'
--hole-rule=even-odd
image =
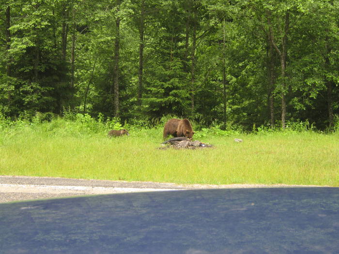
[{"label": "dense green forest of leafy trees and conifers behind the meadow", "polygon": [[0,115],[339,122],[338,0],[1,0]]}]

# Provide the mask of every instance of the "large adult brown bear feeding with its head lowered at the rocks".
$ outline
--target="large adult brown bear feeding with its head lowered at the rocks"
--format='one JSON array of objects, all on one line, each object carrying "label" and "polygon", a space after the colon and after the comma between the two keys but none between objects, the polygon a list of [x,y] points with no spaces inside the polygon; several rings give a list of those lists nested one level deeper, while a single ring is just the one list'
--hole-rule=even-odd
[{"label": "large adult brown bear feeding with its head lowered at the rocks", "polygon": [[172,135],[174,137],[193,137],[193,129],[192,125],[187,119],[170,119],[165,123],[163,138],[164,140],[168,135]]}]

